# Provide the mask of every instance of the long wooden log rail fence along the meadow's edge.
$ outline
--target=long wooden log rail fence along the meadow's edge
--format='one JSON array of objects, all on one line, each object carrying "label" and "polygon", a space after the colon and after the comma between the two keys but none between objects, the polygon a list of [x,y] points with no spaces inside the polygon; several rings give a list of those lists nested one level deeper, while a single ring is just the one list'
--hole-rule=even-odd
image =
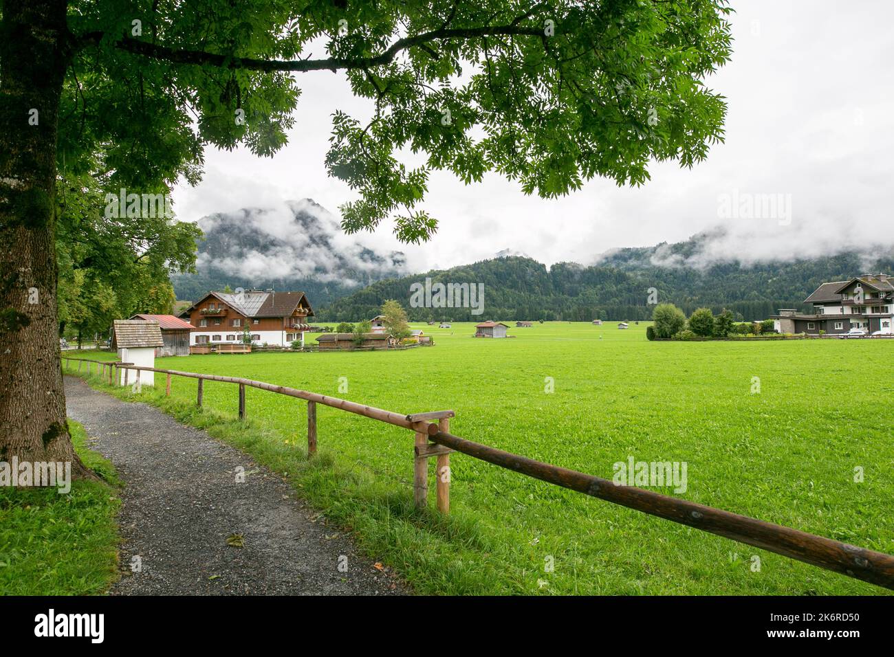
[{"label": "long wooden log rail fence along the meadow's edge", "polygon": [[[452,452],[458,451],[475,459],[484,460],[493,465],[514,470],[522,475],[540,479],[562,488],[569,488],[578,493],[611,501],[629,509],[671,520],[680,525],[692,526],[710,534],[724,536],[739,543],[753,545],[769,552],[776,552],[791,559],[804,561],[813,566],[833,570],[848,577],[855,577],[856,579],[862,579],[866,582],[894,590],[894,556],[890,554],[866,550],[848,543],[807,534],[787,526],[774,525],[763,520],[730,513],[730,511],[714,509],[713,507],[696,504],[691,501],[679,500],[669,495],[662,495],[662,493],[654,493],[653,491],[646,491],[634,486],[616,485],[611,480],[598,476],[586,475],[576,470],[553,466],[552,464],[527,459],[508,451],[497,450],[478,442],[468,441],[450,433],[450,418],[454,417],[452,410],[402,415],[401,413],[376,409],[354,401],[329,397],[316,392],[308,392],[283,385],[274,385],[273,383],[264,383],[234,376],[204,375],[195,372],[134,366],[131,363],[89,361],[86,358],[69,358],[66,356],[62,358],[63,361],[77,361],[78,372],[81,371],[82,363],[88,363],[86,374],[90,373],[89,363],[93,363],[96,366],[97,374],[101,374],[103,380],[108,381],[110,384],[120,380],[120,377],[117,379],[115,377],[115,372],[118,368],[123,367],[125,370],[125,385],[129,384],[127,372],[135,370],[136,378],[133,385],[138,390],[140,371],[164,374],[166,375],[164,392],[168,396],[171,394],[172,376],[198,379],[196,396],[198,407],[202,406],[205,381],[234,383],[239,386],[240,419],[246,417],[245,389],[247,387],[306,400],[308,402],[308,456],[316,453],[316,404],[323,404],[333,409],[345,410],[349,413],[355,413],[390,425],[409,429],[409,431],[415,434],[413,497],[419,509],[426,509],[428,506],[427,459],[434,457],[437,459],[435,476],[437,509],[444,514],[449,512],[450,455]],[[101,372],[99,371],[100,367],[102,367]],[[107,378],[106,368],[109,370]]]}]

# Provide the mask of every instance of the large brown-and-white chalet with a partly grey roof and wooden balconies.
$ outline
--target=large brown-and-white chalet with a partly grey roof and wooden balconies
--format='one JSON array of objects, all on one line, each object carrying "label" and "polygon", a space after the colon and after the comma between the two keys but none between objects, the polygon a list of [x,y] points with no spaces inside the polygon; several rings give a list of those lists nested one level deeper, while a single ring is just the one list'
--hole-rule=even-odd
[{"label": "large brown-and-white chalet with a partly grey roof and wooden balconies", "polygon": [[248,330],[254,342],[286,347],[310,329],[314,310],[304,292],[212,291],[182,316],[190,318],[190,346],[241,343]]}]

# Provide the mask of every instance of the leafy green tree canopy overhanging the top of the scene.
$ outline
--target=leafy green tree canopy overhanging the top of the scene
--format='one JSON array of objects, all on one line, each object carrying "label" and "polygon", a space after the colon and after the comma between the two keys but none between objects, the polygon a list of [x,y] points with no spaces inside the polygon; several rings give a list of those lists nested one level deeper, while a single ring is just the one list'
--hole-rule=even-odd
[{"label": "leafy green tree canopy overhanging the top of the scene", "polygon": [[196,181],[204,147],[283,147],[300,73],[344,72],[375,111],[333,116],[325,165],[359,194],[343,227],[391,218],[400,240],[425,240],[433,170],[555,197],[703,159],[723,136],[724,100],[704,80],[730,56],[729,13],[707,0],[72,0],[60,153],[102,152],[113,187]]}]

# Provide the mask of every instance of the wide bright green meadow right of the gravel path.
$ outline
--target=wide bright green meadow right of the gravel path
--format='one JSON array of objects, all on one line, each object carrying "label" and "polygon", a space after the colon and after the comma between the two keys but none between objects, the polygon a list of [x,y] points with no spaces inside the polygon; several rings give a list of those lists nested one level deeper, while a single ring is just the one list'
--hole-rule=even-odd
[{"label": "wide bright green meadow right of the gravel path", "polygon": [[[620,331],[558,322],[484,340],[470,337],[472,325],[414,324],[434,348],[156,366],[400,413],[453,409],[453,434],[609,479],[630,456],[685,461],[686,493],[662,493],[894,553],[889,341],[649,342],[645,323]],[[554,392],[544,392],[547,377]],[[308,463],[303,402],[249,389],[249,422],[239,425],[236,386],[206,382],[207,410],[197,413],[195,381],[175,377],[172,400],[164,377],[156,383],[141,396],[288,473],[420,593],[886,593],[462,454],[451,457],[450,518],[420,514],[406,430],[319,407],[321,458]]]}]

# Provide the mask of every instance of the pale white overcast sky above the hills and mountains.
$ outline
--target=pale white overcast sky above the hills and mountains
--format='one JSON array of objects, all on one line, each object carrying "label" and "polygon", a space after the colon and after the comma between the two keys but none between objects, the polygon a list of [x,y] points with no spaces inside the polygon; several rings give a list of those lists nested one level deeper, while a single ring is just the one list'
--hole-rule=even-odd
[{"label": "pale white overcast sky above the hills and mountains", "polygon": [[[548,265],[593,263],[611,248],[686,240],[722,225],[699,263],[810,257],[844,248],[890,246],[894,150],[894,10],[889,2],[733,3],[732,61],[706,80],[728,98],[726,142],[692,170],[653,164],[652,181],[619,188],[596,179],[557,200],[527,197],[490,175],[466,186],[433,173],[425,208],[440,220],[434,240],[402,245],[391,226],[362,243],[402,250],[410,270],[526,254]],[[321,55],[317,53],[316,55]],[[207,151],[204,181],[174,190],[181,220],[245,206],[313,198],[333,213],[354,194],[326,176],[331,114],[360,118],[364,100],[342,75],[299,76],[303,93],[289,145],[274,158],[247,150]],[[776,201],[748,215],[748,195]],[[730,206],[737,209],[730,212]]]}]

